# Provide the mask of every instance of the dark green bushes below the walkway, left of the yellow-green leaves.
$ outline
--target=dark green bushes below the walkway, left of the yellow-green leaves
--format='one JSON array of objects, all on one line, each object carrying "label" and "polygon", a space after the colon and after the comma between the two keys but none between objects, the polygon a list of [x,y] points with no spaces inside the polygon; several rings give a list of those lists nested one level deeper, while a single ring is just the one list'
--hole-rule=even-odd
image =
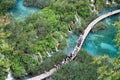
[{"label": "dark green bushes below the walkway, left of the yellow-green leaves", "polygon": [[98,66],[91,61],[93,57],[81,50],[74,61],[63,65],[51,77],[53,80],[96,80]]}]

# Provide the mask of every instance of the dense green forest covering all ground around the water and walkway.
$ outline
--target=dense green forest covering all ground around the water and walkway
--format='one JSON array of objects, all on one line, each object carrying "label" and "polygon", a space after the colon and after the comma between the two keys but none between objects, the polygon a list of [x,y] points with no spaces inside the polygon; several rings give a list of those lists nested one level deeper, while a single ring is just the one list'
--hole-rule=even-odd
[{"label": "dense green forest covering all ground around the water and walkway", "polygon": [[[15,2],[16,0],[0,2],[0,17],[7,16],[11,22],[8,25],[0,23],[0,80],[4,80],[8,72],[11,72],[16,80],[22,80],[26,75],[41,74],[55,64],[61,63],[67,56],[63,50],[67,45],[69,31],[72,30],[76,34],[83,32],[88,23],[98,16],[98,12],[107,7],[118,6],[106,5],[105,0],[95,0],[93,4],[96,11],[92,12],[90,0],[24,0],[26,6],[43,9],[29,15],[23,21],[6,15],[7,11],[14,7]],[[119,0],[116,2],[120,3]],[[116,23],[117,46],[120,46],[119,24],[119,22]],[[95,26],[93,32],[106,27],[103,23]],[[49,57],[49,54],[52,57]],[[114,61],[115,64],[109,63],[109,57],[94,59],[87,52],[80,51],[74,61],[62,66],[51,77],[54,80],[97,80],[98,78],[119,80],[119,58],[115,58]],[[101,68],[105,71],[104,73],[100,71]],[[107,72],[108,69],[111,73]],[[80,72],[76,72],[78,70]],[[65,72],[69,74],[64,76]],[[110,77],[111,75],[113,77]]]}]

